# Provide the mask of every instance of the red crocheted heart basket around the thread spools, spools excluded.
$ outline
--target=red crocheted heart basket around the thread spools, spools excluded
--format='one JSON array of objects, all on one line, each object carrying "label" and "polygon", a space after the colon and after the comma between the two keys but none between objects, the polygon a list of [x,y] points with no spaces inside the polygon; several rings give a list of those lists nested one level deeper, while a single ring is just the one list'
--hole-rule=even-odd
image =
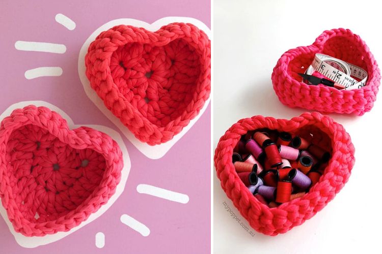
[{"label": "red crocheted heart basket around the thread spools, spools excluded", "polygon": [[[311,140],[332,157],[318,182],[301,198],[270,208],[256,199],[238,177],[232,153],[242,135],[267,128]],[[290,120],[254,116],[239,120],[221,137],[214,156],[217,177],[228,198],[252,228],[266,235],[285,233],[313,217],[347,182],[354,164],[354,146],[343,126],[320,113],[304,113]]]}]

